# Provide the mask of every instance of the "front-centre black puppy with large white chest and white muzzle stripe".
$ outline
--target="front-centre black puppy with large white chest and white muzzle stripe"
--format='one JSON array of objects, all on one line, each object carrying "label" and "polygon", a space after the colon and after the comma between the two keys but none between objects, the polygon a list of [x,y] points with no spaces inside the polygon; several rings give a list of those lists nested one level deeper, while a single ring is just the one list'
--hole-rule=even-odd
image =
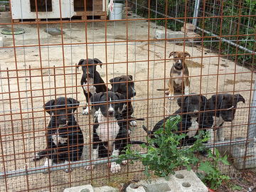
[{"label": "front-centre black puppy with large white chest and white muzzle stripe", "polygon": [[[125,144],[127,145],[128,124],[122,121],[120,113],[126,107],[126,98],[118,92],[100,92],[90,97],[95,105],[97,117],[93,125],[92,159],[119,156]],[[85,169],[92,169],[86,166]],[[110,165],[113,174],[121,170],[116,162]]]}]

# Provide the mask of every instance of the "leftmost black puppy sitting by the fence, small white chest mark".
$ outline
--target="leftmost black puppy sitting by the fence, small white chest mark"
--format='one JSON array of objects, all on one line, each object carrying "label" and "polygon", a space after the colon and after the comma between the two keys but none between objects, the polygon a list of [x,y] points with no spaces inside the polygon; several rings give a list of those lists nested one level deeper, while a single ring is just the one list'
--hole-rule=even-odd
[{"label": "leftmost black puppy sitting by the fence, small white chest mark", "polygon": [[[34,161],[47,156],[44,166],[51,166],[59,161],[78,161],[82,155],[83,135],[75,121],[73,112],[79,102],[73,98],[59,97],[44,105],[51,119],[47,127],[46,150],[38,152]],[[66,169],[66,172],[69,170]]]}]

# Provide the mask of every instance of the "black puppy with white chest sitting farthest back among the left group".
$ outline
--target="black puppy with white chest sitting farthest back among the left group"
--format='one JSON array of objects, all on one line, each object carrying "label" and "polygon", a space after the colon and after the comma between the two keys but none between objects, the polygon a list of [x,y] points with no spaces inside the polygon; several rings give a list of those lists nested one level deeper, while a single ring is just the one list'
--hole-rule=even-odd
[{"label": "black puppy with white chest sitting farthest back among the left group", "polygon": [[[106,92],[107,86],[105,85],[104,80],[100,77],[100,73],[97,72],[96,66],[97,64],[102,63],[99,59],[94,58],[90,59],[81,59],[78,63],[82,65],[82,78],[81,85],[82,90],[85,94],[86,102],[88,104],[89,99],[92,95],[95,95],[98,92]],[[102,64],[100,64],[100,68]],[[89,114],[90,107],[86,107],[85,110],[82,111],[82,114]]]}]

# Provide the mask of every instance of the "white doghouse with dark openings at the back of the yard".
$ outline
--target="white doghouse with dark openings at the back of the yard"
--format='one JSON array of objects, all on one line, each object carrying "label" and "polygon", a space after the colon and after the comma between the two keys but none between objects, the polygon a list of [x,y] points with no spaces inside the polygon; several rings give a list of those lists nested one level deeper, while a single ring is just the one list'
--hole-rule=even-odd
[{"label": "white doghouse with dark openings at the back of the yard", "polygon": [[[38,15],[36,15],[36,8]],[[105,0],[86,0],[86,3],[84,0],[22,0],[22,4],[20,0],[12,0],[11,13],[14,22],[19,22],[21,19],[42,20],[60,17],[80,17],[84,20],[85,16],[105,19]]]}]

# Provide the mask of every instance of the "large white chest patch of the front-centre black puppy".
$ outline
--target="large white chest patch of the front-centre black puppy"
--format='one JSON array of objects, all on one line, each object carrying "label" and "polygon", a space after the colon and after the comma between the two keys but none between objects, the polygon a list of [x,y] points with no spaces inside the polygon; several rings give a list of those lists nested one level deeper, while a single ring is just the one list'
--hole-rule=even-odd
[{"label": "large white chest patch of the front-centre black puppy", "polygon": [[115,122],[116,119],[114,117],[104,117],[102,112],[99,110],[97,120],[99,122],[99,127],[96,129],[97,135],[100,137],[102,142],[109,141],[108,145],[110,149],[112,149],[112,144],[114,143],[114,139],[117,137],[120,129],[117,122]]}]

